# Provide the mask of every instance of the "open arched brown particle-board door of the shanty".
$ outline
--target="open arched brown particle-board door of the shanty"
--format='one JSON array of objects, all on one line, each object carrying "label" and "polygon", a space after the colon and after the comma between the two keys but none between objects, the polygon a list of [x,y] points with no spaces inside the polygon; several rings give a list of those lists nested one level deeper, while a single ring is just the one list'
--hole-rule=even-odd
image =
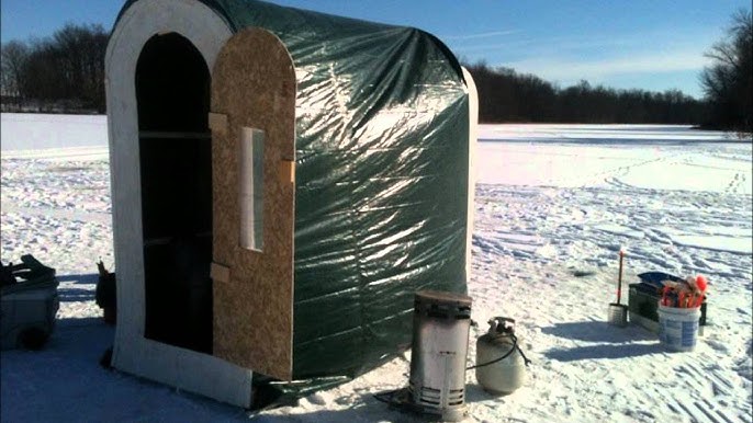
[{"label": "open arched brown particle-board door of the shanty", "polygon": [[[210,114],[213,355],[284,380],[293,359],[294,121],[295,71],[284,45],[260,28],[231,37],[214,65]],[[248,128],[263,138],[260,251],[240,237]]]}]

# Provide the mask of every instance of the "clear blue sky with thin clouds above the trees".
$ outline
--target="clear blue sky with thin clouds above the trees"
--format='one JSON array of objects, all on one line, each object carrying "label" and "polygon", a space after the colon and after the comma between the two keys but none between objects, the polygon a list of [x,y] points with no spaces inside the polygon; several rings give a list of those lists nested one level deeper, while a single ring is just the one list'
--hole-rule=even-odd
[{"label": "clear blue sky with thin clouds above the trees", "polygon": [[[698,75],[731,14],[750,0],[274,0],[325,13],[416,26],[470,62],[567,87],[701,96]],[[66,22],[111,28],[122,0],[2,0],[1,39],[50,35]]]}]

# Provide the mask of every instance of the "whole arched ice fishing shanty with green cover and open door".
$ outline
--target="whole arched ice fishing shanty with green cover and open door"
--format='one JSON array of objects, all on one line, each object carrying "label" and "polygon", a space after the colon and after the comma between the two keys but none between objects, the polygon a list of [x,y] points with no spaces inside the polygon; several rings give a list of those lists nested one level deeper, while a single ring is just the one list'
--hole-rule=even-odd
[{"label": "whole arched ice fishing shanty with green cover and open door", "polygon": [[244,0],[127,1],[106,53],[114,367],[248,407],[355,377],[464,293],[476,98],[435,36]]}]

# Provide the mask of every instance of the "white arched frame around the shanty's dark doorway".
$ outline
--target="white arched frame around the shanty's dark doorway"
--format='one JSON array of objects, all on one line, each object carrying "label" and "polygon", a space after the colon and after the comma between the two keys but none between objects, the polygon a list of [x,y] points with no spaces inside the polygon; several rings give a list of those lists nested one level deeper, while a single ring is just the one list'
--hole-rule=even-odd
[{"label": "white arched frame around the shanty's dark doorway", "polygon": [[145,294],[136,62],[157,34],[178,33],[199,49],[212,72],[232,31],[210,8],[191,0],[142,0],[113,30],[105,56],[105,90],[117,274],[115,368],[234,405],[250,407],[250,369],[144,338]]}]

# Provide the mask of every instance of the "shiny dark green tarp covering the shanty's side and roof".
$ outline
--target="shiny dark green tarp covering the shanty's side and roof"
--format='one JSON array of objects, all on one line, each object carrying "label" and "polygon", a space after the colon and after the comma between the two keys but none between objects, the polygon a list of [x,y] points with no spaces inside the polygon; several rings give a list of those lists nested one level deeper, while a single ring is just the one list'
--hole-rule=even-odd
[{"label": "shiny dark green tarp covering the shanty's side and roof", "polygon": [[257,1],[202,2],[233,31],[274,33],[293,58],[293,376],[355,377],[409,346],[417,290],[467,290],[469,96],[460,65],[415,28]]}]

